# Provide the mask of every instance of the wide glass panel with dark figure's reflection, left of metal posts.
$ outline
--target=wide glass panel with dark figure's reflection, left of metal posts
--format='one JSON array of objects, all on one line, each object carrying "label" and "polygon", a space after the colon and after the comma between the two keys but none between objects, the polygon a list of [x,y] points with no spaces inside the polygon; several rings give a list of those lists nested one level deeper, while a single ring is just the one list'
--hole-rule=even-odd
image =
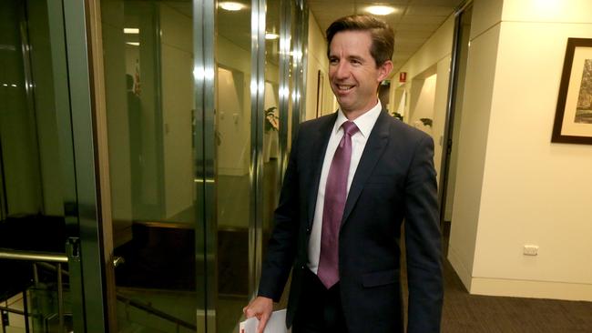
[{"label": "wide glass panel with dark figure's reflection, left of metal posts", "polygon": [[192,5],[104,1],[101,17],[118,330],[195,331]]}]

